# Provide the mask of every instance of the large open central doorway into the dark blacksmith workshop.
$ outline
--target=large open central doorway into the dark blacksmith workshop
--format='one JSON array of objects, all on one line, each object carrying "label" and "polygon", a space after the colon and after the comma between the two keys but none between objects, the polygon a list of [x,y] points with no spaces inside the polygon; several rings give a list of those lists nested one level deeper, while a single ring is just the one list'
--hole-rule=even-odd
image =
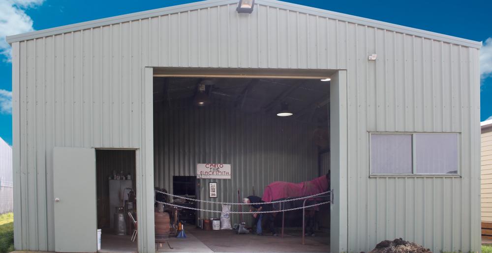
[{"label": "large open central doorway into the dark blacksmith workshop", "polygon": [[[198,178],[195,195],[187,196],[215,202],[237,203],[248,196],[262,197],[265,187],[274,181],[300,183],[324,176],[330,171],[329,106],[330,82],[320,78],[154,77],[155,188],[180,195],[174,193],[176,176],[197,176],[197,164],[231,167],[230,179]],[[293,114],[281,116],[289,113]],[[211,183],[215,185],[215,195],[211,193]],[[176,203],[178,198],[162,199]],[[302,210],[285,212],[283,238],[238,235],[235,230],[205,229],[205,221],[218,219],[220,213],[203,210],[221,210],[221,205],[179,201],[200,209],[196,211],[195,225],[184,226],[187,239],[169,239],[174,249],[164,245],[159,251],[330,249],[328,204],[313,209],[305,223],[307,236],[303,245]],[[248,209],[232,207],[232,211]],[[156,211],[167,213],[173,223],[172,207],[156,206]],[[231,215],[232,225],[245,222],[252,227],[253,220],[247,214]],[[275,217],[274,224],[280,235],[282,215]]]}]

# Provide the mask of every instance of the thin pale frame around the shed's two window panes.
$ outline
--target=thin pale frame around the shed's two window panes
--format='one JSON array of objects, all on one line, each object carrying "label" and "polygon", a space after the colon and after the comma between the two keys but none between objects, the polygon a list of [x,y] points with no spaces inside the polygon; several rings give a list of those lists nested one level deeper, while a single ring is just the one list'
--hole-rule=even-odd
[{"label": "thin pale frame around the shed's two window panes", "polygon": [[[369,177],[461,177],[461,133],[460,132],[368,132],[368,149],[369,149]],[[458,140],[457,143],[457,174],[431,174],[431,173],[416,173],[417,169],[417,156],[416,156],[416,134],[456,134]],[[372,173],[372,159],[371,159],[371,140],[372,135],[411,135],[412,136],[412,173]]]}]

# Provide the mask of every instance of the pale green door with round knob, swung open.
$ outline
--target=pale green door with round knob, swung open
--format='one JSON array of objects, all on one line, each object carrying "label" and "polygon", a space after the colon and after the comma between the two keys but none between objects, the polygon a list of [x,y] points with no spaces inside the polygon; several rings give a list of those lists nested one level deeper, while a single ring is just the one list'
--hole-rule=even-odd
[{"label": "pale green door with round knob, swung open", "polygon": [[55,147],[56,252],[97,252],[95,149]]}]

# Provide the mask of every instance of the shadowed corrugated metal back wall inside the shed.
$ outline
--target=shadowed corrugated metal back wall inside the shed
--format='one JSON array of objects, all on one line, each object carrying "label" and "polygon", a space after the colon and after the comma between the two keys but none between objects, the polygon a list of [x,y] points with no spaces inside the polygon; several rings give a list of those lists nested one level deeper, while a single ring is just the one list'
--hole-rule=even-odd
[{"label": "shadowed corrugated metal back wall inside the shed", "polygon": [[[214,105],[154,108],[155,186],[173,191],[173,176],[196,175],[198,163],[231,164],[231,179],[200,179],[200,199],[237,202],[263,195],[274,181],[302,182],[318,176],[318,150],[312,141],[314,126],[262,113]],[[217,182],[218,197],[209,198],[208,183]],[[202,209],[221,210],[218,204]],[[244,208],[243,208],[244,209]],[[201,218],[218,217],[200,214]],[[246,217],[246,216],[245,216]],[[239,222],[237,215],[234,222]]]}]

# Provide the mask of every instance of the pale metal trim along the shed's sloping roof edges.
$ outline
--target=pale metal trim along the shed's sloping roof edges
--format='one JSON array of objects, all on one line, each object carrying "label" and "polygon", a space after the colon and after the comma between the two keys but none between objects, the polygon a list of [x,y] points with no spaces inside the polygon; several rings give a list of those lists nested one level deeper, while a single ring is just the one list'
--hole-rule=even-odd
[{"label": "pale metal trim along the shed's sloping roof edges", "polygon": [[[237,3],[237,2],[239,2],[239,0],[199,1],[199,2],[193,2],[193,3],[187,3],[187,4],[165,7],[165,8],[159,8],[159,9],[154,9],[154,10],[135,12],[135,13],[125,14],[125,15],[111,17],[111,18],[97,19],[97,20],[93,20],[93,21],[82,22],[82,23],[77,23],[77,24],[67,25],[67,26],[62,26],[62,27],[26,32],[26,33],[22,33],[22,34],[7,36],[6,40],[10,44],[12,42],[30,40],[30,39],[34,39],[34,38],[41,38],[41,37],[51,36],[51,35],[55,35],[55,34],[61,34],[61,33],[65,33],[65,32],[71,32],[71,31],[77,31],[77,30],[83,30],[83,29],[89,29],[89,28],[96,28],[96,27],[101,27],[101,26],[108,26],[111,24],[118,24],[118,23],[122,23],[122,22],[128,22],[128,21],[139,20],[139,19],[146,19],[146,18],[157,17],[157,16],[167,15],[167,14],[172,14],[172,13],[177,13],[177,12],[202,9],[202,8],[213,7],[213,6],[217,6],[217,5],[233,4],[233,3]],[[267,6],[271,6],[271,7],[275,7],[275,8],[280,8],[280,9],[298,11],[298,12],[312,14],[312,15],[321,16],[321,17],[327,17],[327,18],[331,18],[331,19],[337,19],[337,20],[341,20],[341,21],[354,23],[354,24],[366,25],[369,27],[387,29],[387,30],[411,34],[411,35],[415,35],[415,36],[419,36],[419,37],[435,39],[435,40],[453,43],[453,44],[457,44],[457,45],[462,45],[462,46],[466,46],[466,47],[472,47],[472,48],[478,48],[478,49],[480,49],[482,47],[482,42],[478,42],[478,41],[463,39],[463,38],[459,38],[459,37],[449,36],[449,35],[445,35],[445,34],[440,34],[440,33],[436,33],[436,32],[416,29],[416,28],[399,26],[399,25],[390,24],[390,23],[386,23],[386,22],[376,21],[376,20],[367,19],[367,18],[361,18],[361,17],[357,17],[357,16],[352,16],[352,15],[342,14],[342,13],[338,13],[338,12],[334,12],[334,11],[328,11],[328,10],[308,7],[308,6],[294,4],[294,3],[288,3],[288,2],[277,1],[277,0],[256,0],[255,3],[260,4],[260,5],[267,5]]]}]

